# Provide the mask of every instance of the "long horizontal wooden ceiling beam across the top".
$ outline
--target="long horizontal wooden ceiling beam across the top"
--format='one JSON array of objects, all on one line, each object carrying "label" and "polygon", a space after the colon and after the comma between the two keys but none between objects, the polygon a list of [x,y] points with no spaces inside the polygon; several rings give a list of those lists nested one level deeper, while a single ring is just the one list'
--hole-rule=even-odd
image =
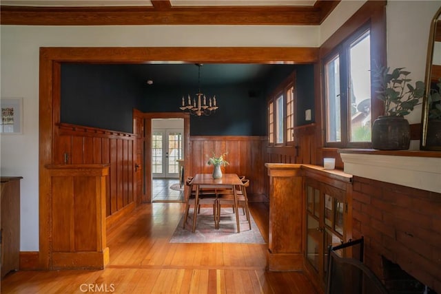
[{"label": "long horizontal wooden ceiling beam across the top", "polygon": [[[327,2],[330,2],[327,4]],[[1,6],[1,25],[319,25],[339,1],[309,6],[21,7]]]}]

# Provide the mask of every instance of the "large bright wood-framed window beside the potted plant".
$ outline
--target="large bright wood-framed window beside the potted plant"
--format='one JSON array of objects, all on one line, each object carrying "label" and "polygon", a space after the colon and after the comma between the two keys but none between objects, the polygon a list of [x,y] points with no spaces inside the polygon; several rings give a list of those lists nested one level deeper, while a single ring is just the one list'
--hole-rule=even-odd
[{"label": "large bright wood-framed window beside the potted plant", "polygon": [[326,145],[371,142],[371,42],[362,28],[324,60]]}]

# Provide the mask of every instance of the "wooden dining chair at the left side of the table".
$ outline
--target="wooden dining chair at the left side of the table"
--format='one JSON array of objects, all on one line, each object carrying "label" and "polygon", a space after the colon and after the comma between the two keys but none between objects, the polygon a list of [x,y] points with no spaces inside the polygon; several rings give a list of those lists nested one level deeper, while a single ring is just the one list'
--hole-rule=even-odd
[{"label": "wooden dining chair at the left side of the table", "polygon": [[[188,214],[190,206],[193,206],[194,209],[198,209],[198,213],[201,211],[201,205],[212,205],[213,207],[213,220],[214,227],[216,228],[216,194],[213,189],[199,189],[198,203],[196,202],[196,185],[192,184],[193,177],[188,177],[185,181],[185,185],[188,186],[187,193],[184,196],[185,202],[185,211],[184,211],[184,220],[183,220],[183,229],[185,229],[185,224],[187,224]],[[197,214],[196,214],[197,217]]]}]

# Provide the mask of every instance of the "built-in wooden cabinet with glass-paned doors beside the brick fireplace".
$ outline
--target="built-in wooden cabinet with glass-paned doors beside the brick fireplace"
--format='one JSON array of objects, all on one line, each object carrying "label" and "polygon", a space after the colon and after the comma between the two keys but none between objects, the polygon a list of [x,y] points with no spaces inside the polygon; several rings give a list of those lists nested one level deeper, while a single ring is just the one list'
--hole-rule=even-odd
[{"label": "built-in wooden cabinet with glass-paned doors beside the brick fireplace", "polygon": [[[351,238],[351,176],[307,170],[305,200],[305,268],[320,287],[327,277],[327,248]],[[339,179],[336,179],[339,178]]]}]

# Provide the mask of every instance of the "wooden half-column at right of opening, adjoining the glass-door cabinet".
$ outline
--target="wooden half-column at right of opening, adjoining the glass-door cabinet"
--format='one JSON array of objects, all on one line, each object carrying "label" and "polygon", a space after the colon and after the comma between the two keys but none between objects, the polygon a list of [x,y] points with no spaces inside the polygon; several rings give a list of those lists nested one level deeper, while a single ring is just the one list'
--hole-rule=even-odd
[{"label": "wooden half-column at right of opening, adjoining the glass-door cabinet", "polygon": [[269,176],[269,271],[302,271],[301,165],[265,163]]}]

